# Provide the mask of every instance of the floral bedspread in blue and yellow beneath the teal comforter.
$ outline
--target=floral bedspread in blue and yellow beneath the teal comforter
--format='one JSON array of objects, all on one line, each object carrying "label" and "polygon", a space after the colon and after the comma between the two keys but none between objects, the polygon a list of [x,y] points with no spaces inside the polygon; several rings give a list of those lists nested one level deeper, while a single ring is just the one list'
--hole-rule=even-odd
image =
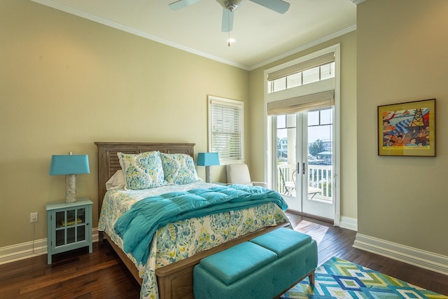
[{"label": "floral bedspread in blue and yellow beneath the teal comforter", "polygon": [[[98,229],[106,232],[113,242],[123,249],[123,239],[116,235],[113,226],[135,202],[148,196],[210,186],[210,183],[197,182],[144,190],[109,190],[103,200]],[[288,218],[281,208],[269,202],[248,209],[190,218],[165,225],[155,233],[145,265],[138,264],[131,254],[127,254],[134,261],[139,276],[143,279],[140,297],[158,298],[155,269],[211,249],[248,232],[285,222],[288,222]]]}]

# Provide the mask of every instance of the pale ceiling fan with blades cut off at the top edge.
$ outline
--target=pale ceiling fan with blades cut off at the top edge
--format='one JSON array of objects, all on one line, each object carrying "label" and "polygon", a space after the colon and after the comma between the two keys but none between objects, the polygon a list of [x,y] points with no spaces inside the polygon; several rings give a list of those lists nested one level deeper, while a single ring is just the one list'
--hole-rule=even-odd
[{"label": "pale ceiling fan with blades cut off at the top edge", "polygon": [[[169,4],[169,8],[176,11],[180,8],[184,8],[191,4],[195,4],[201,0],[179,0]],[[272,11],[276,11],[277,13],[286,13],[289,8],[288,2],[283,0],[249,0],[256,4],[260,4],[260,6],[265,6],[265,8],[269,8]],[[244,0],[216,0],[218,4],[223,6],[223,24],[221,26],[222,32],[231,32],[233,29],[233,13],[235,9],[237,9]]]}]

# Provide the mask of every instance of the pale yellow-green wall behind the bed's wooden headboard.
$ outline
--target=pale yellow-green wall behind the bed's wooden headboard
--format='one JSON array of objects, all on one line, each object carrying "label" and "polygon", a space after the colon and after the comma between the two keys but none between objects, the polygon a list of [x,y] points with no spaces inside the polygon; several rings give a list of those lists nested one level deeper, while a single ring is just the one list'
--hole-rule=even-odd
[{"label": "pale yellow-green wall behind the bed's wooden headboard", "polygon": [[[48,175],[51,155],[89,155],[78,197],[94,202],[97,227],[94,141],[207,151],[207,95],[248,99],[248,71],[31,1],[0,1],[0,37],[0,248],[33,239],[31,212],[34,238],[46,237],[45,203],[65,190],[64,176]],[[216,179],[223,170],[214,167]]]}]

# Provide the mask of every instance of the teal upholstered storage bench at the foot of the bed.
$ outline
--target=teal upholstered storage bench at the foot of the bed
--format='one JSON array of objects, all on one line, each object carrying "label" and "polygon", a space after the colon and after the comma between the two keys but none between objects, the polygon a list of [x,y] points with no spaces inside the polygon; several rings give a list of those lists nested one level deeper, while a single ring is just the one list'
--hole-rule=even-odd
[{"label": "teal upholstered storage bench at the foot of the bed", "polygon": [[195,298],[274,298],[309,276],[314,283],[317,244],[279,228],[203,258],[193,270]]}]

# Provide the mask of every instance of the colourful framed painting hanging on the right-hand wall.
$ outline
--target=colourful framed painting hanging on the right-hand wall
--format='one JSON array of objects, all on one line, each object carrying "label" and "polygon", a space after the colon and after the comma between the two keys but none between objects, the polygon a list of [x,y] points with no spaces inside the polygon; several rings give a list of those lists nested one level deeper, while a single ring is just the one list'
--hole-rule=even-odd
[{"label": "colourful framed painting hanging on the right-hand wall", "polygon": [[435,157],[435,99],[378,106],[378,155]]}]

